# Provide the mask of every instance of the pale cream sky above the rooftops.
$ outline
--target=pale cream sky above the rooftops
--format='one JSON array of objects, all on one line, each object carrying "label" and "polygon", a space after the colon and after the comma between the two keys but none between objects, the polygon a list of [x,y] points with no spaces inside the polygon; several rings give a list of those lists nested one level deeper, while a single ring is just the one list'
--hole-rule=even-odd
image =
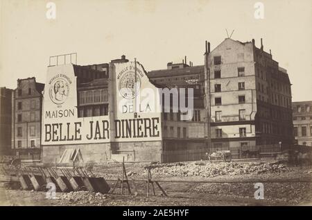
[{"label": "pale cream sky above the rooftops", "polygon": [[293,101],[312,100],[312,1],[252,0],[62,0],[48,19],[44,0],[0,0],[0,86],[17,78],[44,83],[49,57],[78,53],[78,65],[137,58],[146,71],[167,62],[203,65],[205,40],[214,49],[226,37],[241,42],[263,38],[265,51],[287,69]]}]

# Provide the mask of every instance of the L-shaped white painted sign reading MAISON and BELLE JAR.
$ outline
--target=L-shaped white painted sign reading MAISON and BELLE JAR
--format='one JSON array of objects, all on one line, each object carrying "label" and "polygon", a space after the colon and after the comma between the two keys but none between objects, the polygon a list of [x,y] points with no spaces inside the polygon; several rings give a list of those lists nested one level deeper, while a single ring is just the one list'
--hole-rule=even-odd
[{"label": "L-shaped white painted sign reading MAISON and BELLE JAR", "polygon": [[42,107],[42,144],[109,142],[108,116],[78,117],[73,65],[48,68]]}]

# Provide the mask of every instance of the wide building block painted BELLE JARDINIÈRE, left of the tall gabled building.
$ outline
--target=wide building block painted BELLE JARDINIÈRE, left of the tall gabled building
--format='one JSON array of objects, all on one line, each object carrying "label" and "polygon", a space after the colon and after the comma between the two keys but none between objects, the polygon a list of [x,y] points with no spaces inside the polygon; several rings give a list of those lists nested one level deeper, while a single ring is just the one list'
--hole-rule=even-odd
[{"label": "wide building block painted BELLE JARDINI\u00c8RE, left of the tall gabled building", "polygon": [[[169,73],[174,74],[171,83],[158,82],[159,76]],[[62,155],[69,151],[80,152],[83,162],[205,157],[202,74],[203,66],[184,64],[146,73],[139,62],[125,56],[109,64],[49,66],[42,109],[43,162],[64,162]],[[157,102],[159,87],[179,87],[179,83],[195,91],[194,117],[187,121],[180,120],[182,112],[162,114]]]}]

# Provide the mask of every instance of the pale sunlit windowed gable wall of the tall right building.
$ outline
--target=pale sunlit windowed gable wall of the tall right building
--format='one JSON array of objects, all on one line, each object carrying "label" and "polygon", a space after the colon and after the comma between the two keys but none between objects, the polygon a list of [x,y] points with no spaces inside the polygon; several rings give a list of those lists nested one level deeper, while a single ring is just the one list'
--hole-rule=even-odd
[{"label": "pale sunlit windowed gable wall of the tall right building", "polygon": [[212,146],[240,146],[255,139],[253,58],[251,42],[232,39],[224,40],[209,53]]}]

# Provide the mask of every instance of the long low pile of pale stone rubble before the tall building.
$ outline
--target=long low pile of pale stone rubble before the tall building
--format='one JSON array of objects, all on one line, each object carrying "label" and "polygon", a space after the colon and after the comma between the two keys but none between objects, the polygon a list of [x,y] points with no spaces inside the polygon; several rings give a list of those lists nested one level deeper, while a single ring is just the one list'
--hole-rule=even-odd
[{"label": "long low pile of pale stone rubble before the tall building", "polygon": [[[214,177],[222,175],[240,174],[276,174],[291,171],[284,164],[270,164],[266,162],[217,162],[217,163],[176,163],[152,167],[153,176],[200,176]],[[146,174],[146,171],[144,171]]]}]

